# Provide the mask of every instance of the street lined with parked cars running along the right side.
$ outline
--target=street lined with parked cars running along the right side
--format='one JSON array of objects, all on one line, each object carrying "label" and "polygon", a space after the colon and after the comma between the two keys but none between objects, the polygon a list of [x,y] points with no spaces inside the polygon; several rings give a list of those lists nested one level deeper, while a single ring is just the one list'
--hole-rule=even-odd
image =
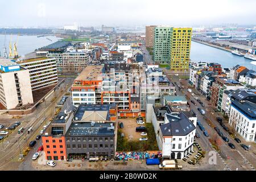
[{"label": "street lined with parked cars running along the right side", "polygon": [[[179,82],[180,80],[178,77],[175,77],[171,79],[170,76],[168,76],[168,78],[173,81],[173,82]],[[222,127],[220,126],[220,124],[217,122],[216,117],[221,117],[223,119],[223,123],[225,123],[225,126],[229,127],[228,125],[228,121],[226,121],[223,117],[222,114],[217,113],[217,112],[211,112],[212,109],[210,108],[209,105],[209,101],[206,100],[206,98],[202,95],[200,96],[196,96],[198,97],[205,105],[205,107],[201,107],[201,105],[199,104],[199,102],[197,102],[195,100],[195,98],[193,98],[191,96],[191,93],[187,92],[187,89],[184,88],[184,92],[182,93],[181,91],[179,91],[179,89],[176,86],[176,93],[177,95],[187,95],[189,97],[189,101],[188,103],[191,106],[191,109],[193,111],[195,111],[195,113],[197,114],[197,120],[200,121],[203,126],[205,127],[205,129],[208,131],[209,137],[205,137],[203,134],[203,131],[201,131],[199,129],[199,127],[197,126],[197,131],[200,134],[200,138],[197,139],[199,140],[199,143],[201,143],[201,146],[204,148],[204,150],[206,150],[207,152],[209,152],[210,150],[214,150],[209,144],[209,138],[213,138],[217,135],[217,137],[219,138],[218,140],[220,140],[221,144],[220,144],[220,152],[218,153],[218,156],[222,159],[222,162],[225,164],[226,168],[230,168],[231,170],[255,170],[255,166],[256,166],[256,160],[255,160],[255,154],[253,150],[249,150],[249,151],[245,151],[243,150],[243,148],[240,146],[240,144],[238,144],[232,137],[230,137],[230,135],[228,134],[227,131],[225,131],[224,129],[222,129]],[[192,93],[195,92],[196,89],[192,89]],[[196,106],[194,104],[192,104],[191,100],[196,102]],[[205,110],[205,115],[201,115],[201,113],[197,110],[197,108],[201,108]],[[212,125],[210,125],[210,123],[207,122],[206,118],[210,119],[210,122],[212,122]],[[233,143],[236,148],[232,149],[228,146],[228,142],[224,142],[224,140],[222,140],[221,137],[218,136],[217,132],[213,129],[213,127],[218,127],[218,129],[220,129],[220,131],[224,134],[225,137],[228,137],[229,142]],[[240,137],[239,135],[237,135],[238,138],[241,139],[242,143],[245,143],[242,139],[242,137]],[[247,143],[245,143],[247,144]],[[254,143],[252,143],[251,145],[253,145]],[[253,149],[253,148],[252,148]]]}]

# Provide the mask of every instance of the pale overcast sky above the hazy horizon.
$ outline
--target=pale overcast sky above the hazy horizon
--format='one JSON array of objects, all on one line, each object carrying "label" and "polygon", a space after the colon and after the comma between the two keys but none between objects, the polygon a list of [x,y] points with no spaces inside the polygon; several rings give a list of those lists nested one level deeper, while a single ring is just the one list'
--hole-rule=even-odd
[{"label": "pale overcast sky above the hazy horizon", "polygon": [[254,24],[256,0],[1,0],[6,26]]}]

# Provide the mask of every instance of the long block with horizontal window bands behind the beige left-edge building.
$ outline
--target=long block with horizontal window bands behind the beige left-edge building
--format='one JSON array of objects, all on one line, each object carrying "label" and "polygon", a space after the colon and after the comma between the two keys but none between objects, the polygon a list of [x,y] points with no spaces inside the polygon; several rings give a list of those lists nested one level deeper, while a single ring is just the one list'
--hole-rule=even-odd
[{"label": "long block with horizontal window bands behind the beige left-edge building", "polygon": [[32,91],[58,83],[55,57],[33,57],[16,63],[29,70]]}]

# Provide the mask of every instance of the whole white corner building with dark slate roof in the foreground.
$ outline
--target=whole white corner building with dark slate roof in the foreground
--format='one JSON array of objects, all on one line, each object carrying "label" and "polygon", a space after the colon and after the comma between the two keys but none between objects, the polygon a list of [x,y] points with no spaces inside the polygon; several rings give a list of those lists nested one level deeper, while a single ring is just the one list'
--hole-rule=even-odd
[{"label": "whole white corner building with dark slate roof in the foreground", "polygon": [[159,131],[159,150],[163,158],[183,159],[193,150],[196,127],[184,113],[178,116],[164,114]]}]

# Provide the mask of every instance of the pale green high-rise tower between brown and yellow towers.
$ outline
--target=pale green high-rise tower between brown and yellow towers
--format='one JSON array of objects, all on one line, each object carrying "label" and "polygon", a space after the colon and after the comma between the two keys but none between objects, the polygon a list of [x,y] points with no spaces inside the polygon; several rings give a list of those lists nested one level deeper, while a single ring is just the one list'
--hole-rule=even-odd
[{"label": "pale green high-rise tower between brown and yellow towers", "polygon": [[171,29],[172,27],[155,27],[154,63],[170,64]]}]

